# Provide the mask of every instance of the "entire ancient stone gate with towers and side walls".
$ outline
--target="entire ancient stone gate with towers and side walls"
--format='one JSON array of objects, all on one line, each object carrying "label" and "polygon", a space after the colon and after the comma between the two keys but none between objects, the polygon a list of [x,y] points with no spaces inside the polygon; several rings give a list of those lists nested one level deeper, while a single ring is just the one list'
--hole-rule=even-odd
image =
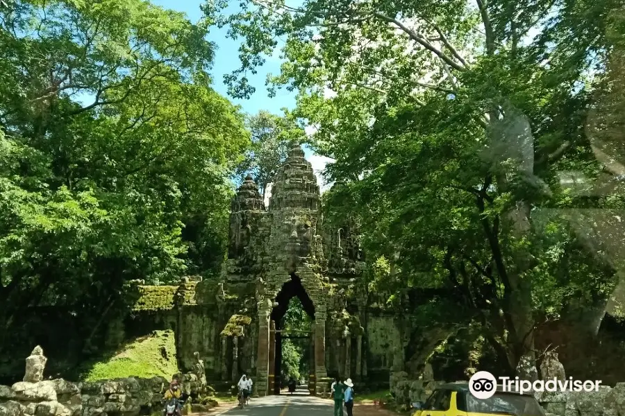
[{"label": "entire ancient stone gate with towers and side walls", "polygon": [[387,294],[367,290],[357,225],[324,224],[320,208],[317,177],[300,146],[278,169],[267,207],[252,178],[244,180],[231,206],[221,275],[187,279],[176,289],[172,326],[181,368],[199,352],[217,388],[249,374],[258,395],[272,394],[281,318],[298,297],[313,321],[311,392],[328,390],[328,374],[381,387],[391,370],[404,370],[409,322],[385,309]]}]

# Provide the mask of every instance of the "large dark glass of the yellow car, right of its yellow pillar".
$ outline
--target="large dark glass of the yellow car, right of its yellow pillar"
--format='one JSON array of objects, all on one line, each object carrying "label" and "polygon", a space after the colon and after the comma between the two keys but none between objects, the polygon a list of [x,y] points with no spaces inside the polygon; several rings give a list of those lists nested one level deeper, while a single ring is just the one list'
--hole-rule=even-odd
[{"label": "large dark glass of the yellow car, right of its yellow pillar", "polygon": [[466,395],[467,412],[497,415],[544,416],[542,408],[532,396],[496,393],[488,399]]}]

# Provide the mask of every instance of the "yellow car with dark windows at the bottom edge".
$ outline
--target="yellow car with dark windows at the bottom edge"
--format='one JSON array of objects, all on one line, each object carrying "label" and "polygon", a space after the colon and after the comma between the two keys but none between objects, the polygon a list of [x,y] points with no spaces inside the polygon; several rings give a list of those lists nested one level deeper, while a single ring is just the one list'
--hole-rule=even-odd
[{"label": "yellow car with dark windows at the bottom edge", "polygon": [[412,404],[412,416],[545,416],[531,393],[504,392],[497,386],[488,399],[477,399],[469,392],[468,382],[440,386],[425,403]]}]

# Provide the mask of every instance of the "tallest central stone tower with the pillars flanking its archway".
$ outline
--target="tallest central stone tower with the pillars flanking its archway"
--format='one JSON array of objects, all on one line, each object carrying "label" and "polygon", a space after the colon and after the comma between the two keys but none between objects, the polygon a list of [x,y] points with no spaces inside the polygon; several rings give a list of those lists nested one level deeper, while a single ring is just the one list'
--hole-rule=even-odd
[{"label": "tallest central stone tower with the pillars flanking its archway", "polygon": [[[267,221],[272,232],[266,241],[268,252],[261,277],[264,280],[263,285],[259,285],[256,292],[259,380],[265,379],[265,352],[269,380],[272,375],[276,375],[272,374],[276,342],[271,336],[271,329],[276,326],[274,320],[279,319],[276,318],[280,315],[279,311],[285,312],[288,300],[298,289],[298,296],[315,322],[312,334],[315,377],[326,377],[324,287],[327,285],[324,286],[324,283],[327,284],[328,279],[320,273],[324,259],[322,239],[317,233],[318,220],[317,177],[313,173],[313,166],[304,158],[303,150],[299,146],[293,146],[276,174],[267,211]],[[305,295],[301,293],[302,289]]]}]

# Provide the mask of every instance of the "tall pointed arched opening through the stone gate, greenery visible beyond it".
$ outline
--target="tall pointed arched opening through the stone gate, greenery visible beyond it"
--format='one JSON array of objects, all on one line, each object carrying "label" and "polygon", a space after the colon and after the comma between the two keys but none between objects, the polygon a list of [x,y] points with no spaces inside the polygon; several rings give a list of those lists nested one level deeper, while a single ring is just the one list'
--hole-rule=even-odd
[{"label": "tall pointed arched opening through the stone gate, greenery visible beyond it", "polygon": [[[294,311],[292,300],[297,299],[297,309]],[[315,305],[308,297],[306,289],[301,284],[301,279],[291,273],[290,280],[283,284],[281,291],[276,296],[276,306],[272,309],[272,328],[273,334],[269,337],[270,342],[270,358],[269,367],[270,374],[273,376],[273,385],[269,385],[269,390],[273,390],[275,395],[280,394],[280,388],[283,382],[281,374],[283,374],[283,353],[284,348],[288,347],[288,358],[293,359],[292,354],[300,354],[304,364],[299,369],[305,368],[306,372],[315,371],[315,352],[313,345],[313,326],[315,322]],[[299,317],[298,317],[299,314]],[[306,319],[306,315],[308,319]],[[285,322],[285,318],[301,320],[303,322]],[[295,325],[293,324],[295,323]],[[299,352],[298,352],[299,350]],[[308,374],[303,374],[308,378]],[[271,379],[271,377],[270,377]]]}]

